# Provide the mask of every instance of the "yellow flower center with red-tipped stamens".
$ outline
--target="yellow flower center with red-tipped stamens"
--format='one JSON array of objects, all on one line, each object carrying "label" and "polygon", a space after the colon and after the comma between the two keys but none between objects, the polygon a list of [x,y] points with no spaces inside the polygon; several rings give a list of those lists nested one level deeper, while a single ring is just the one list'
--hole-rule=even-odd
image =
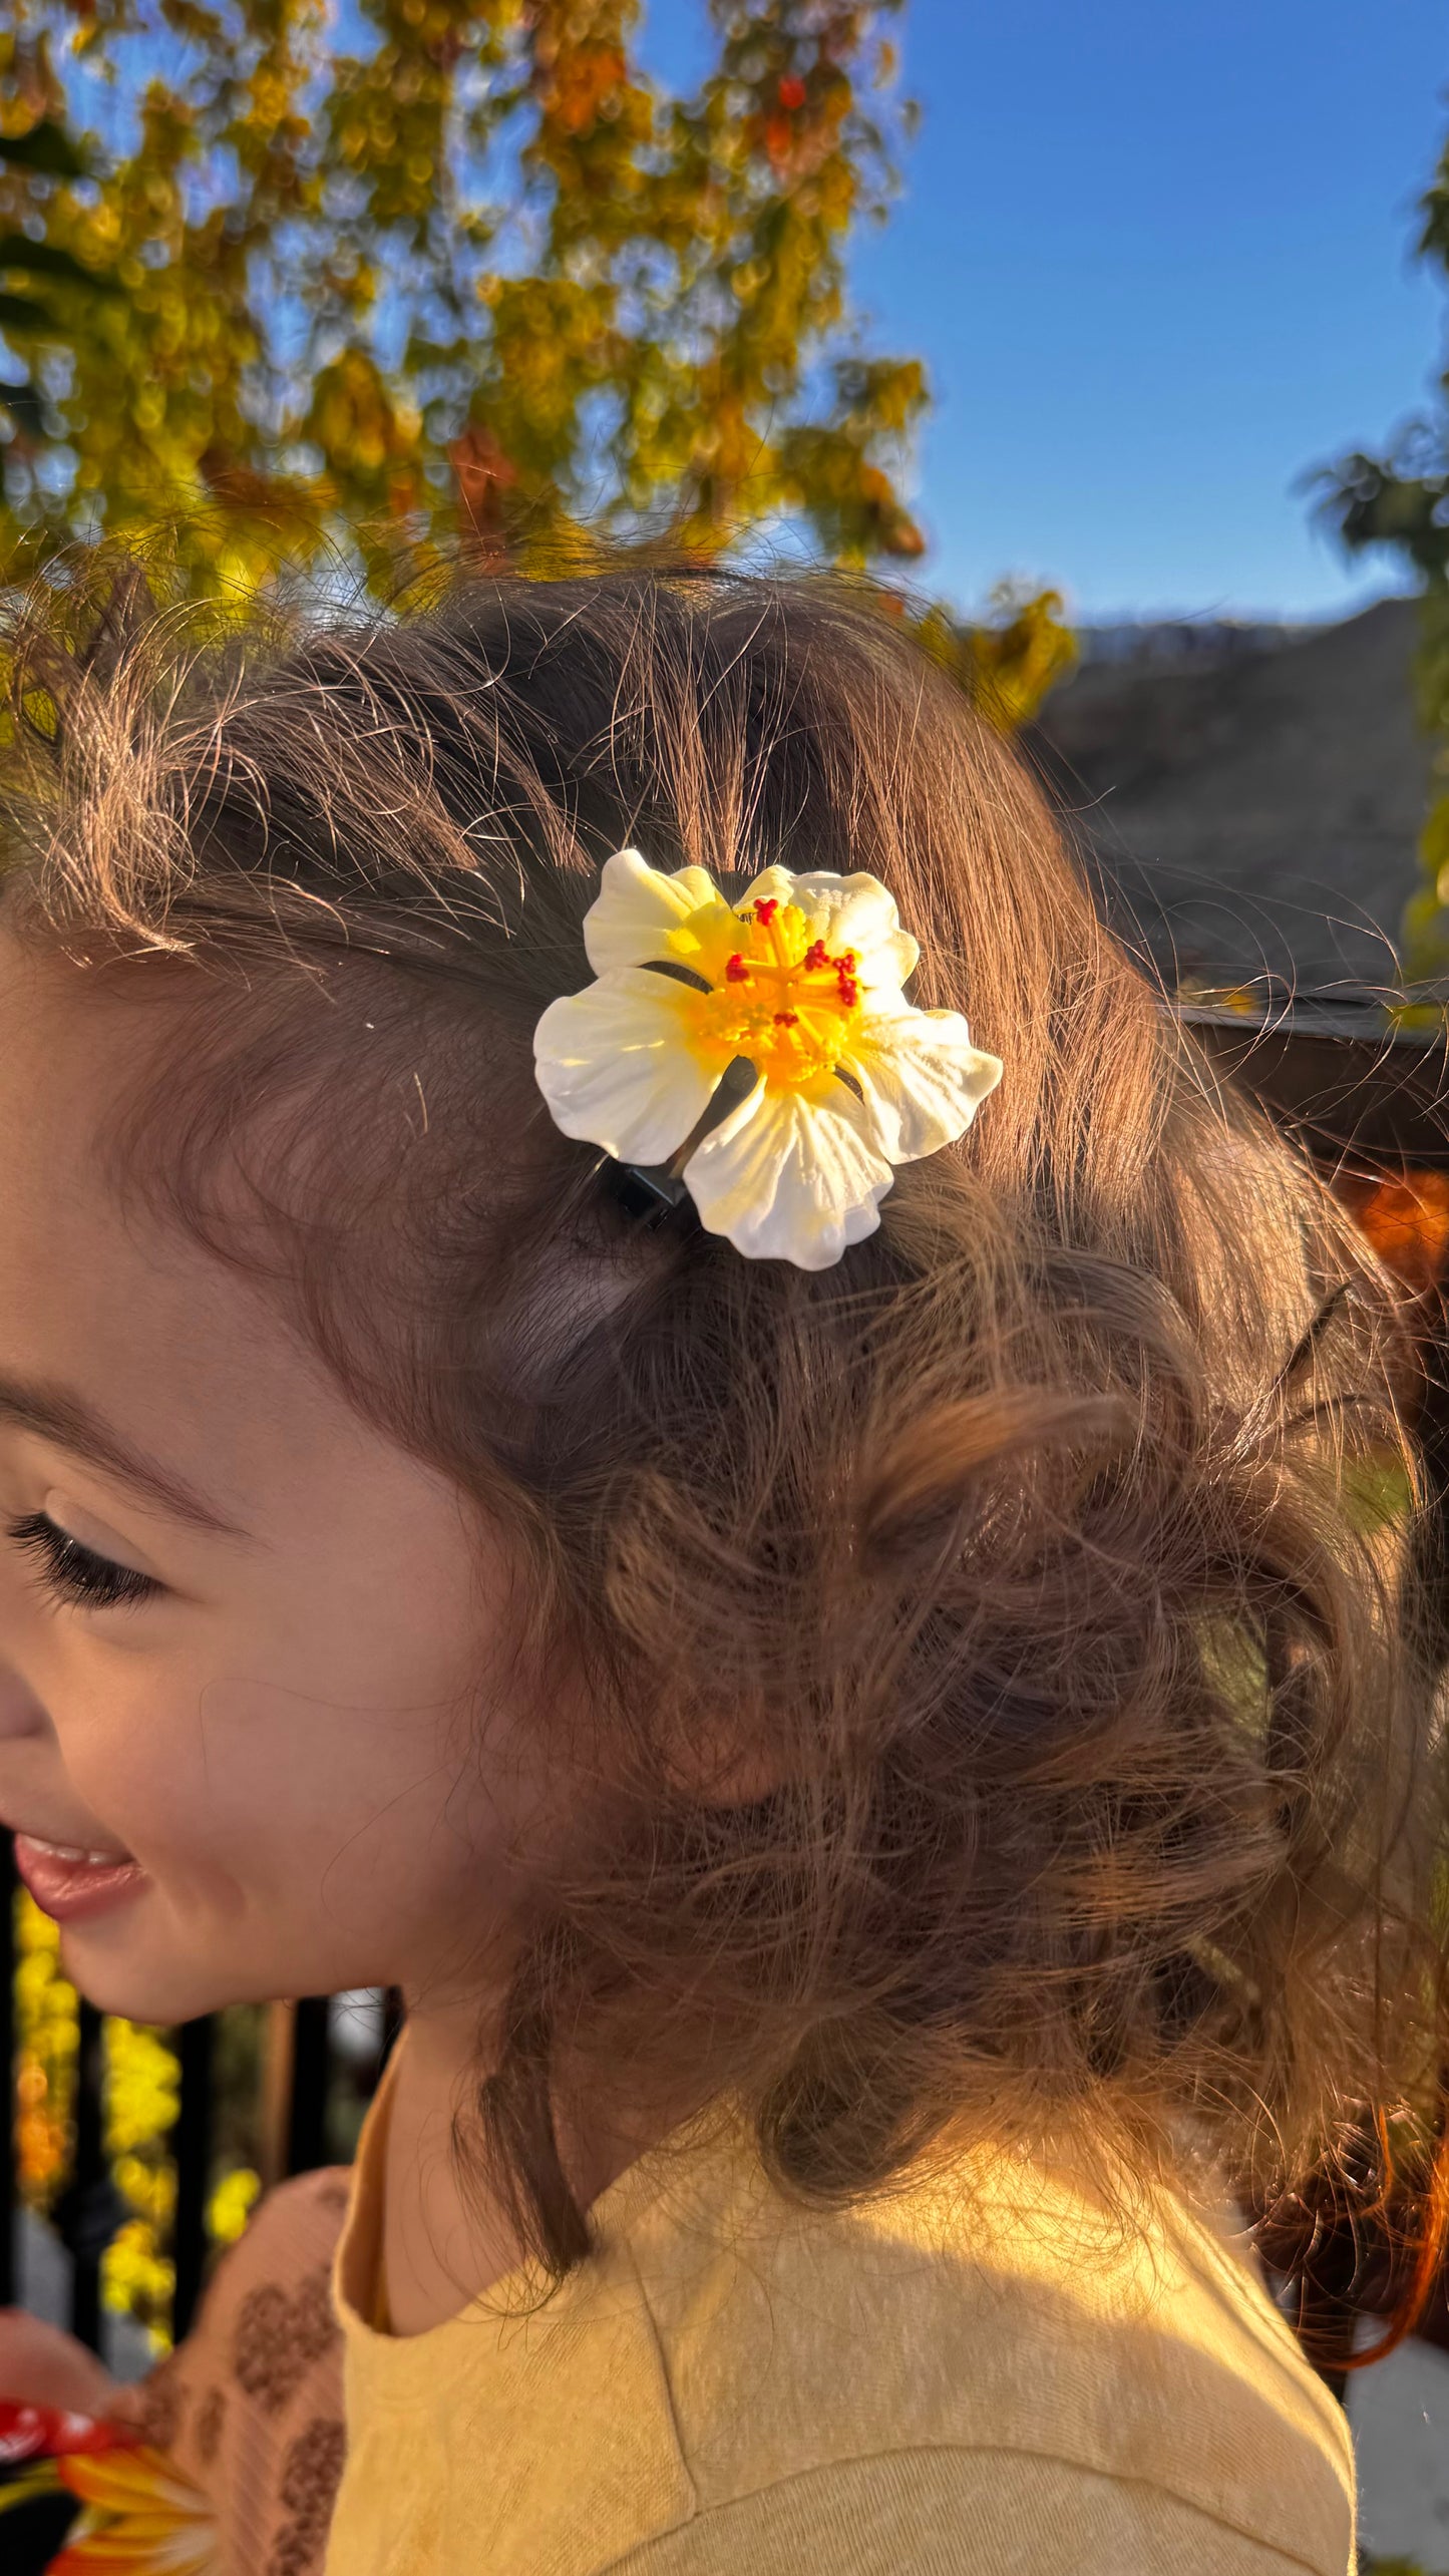
[{"label": "yellow flower center with red-tipped stamens", "polygon": [[856,951],[810,938],[799,904],[761,896],[748,912],[701,904],[668,940],[709,992],[688,992],[683,1023],[712,1069],[748,1056],[763,1079],[797,1090],[833,1074],[861,1018]]}]

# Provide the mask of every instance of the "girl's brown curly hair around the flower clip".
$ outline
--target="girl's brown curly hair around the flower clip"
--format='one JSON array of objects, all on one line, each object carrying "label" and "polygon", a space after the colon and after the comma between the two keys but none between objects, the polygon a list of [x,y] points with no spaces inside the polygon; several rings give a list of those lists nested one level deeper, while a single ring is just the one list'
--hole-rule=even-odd
[{"label": "girl's brown curly hair around the flower clip", "polygon": [[[513,1530],[539,1723],[588,1677],[608,1834],[477,2099],[526,2244],[585,2251],[557,2123],[619,2066],[743,2097],[810,2197],[962,2123],[1209,2148],[1256,2208],[1413,2136],[1392,1293],[879,603],[616,572],[204,649],[131,613],[21,641],[13,706],[10,922],[175,1005],[126,1167]],[[624,842],[727,894],[874,871],[913,997],[1006,1061],[833,1270],[642,1226],[544,1110]]]}]

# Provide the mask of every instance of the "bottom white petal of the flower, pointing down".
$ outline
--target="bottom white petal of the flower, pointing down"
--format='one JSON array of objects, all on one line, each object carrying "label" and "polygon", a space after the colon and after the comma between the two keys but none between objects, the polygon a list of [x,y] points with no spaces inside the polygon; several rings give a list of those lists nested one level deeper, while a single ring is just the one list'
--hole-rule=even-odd
[{"label": "bottom white petal of the flower, pointing down", "polygon": [[712,1234],[799,1270],[828,1270],[874,1234],[892,1177],[861,1103],[833,1077],[799,1092],[758,1082],[683,1167]]}]

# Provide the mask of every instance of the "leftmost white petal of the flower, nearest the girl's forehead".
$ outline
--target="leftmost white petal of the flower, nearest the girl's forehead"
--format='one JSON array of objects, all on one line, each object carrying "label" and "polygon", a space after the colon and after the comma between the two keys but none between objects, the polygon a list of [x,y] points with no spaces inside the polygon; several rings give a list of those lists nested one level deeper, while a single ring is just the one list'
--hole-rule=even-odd
[{"label": "leftmost white petal of the flower, nearest the girl's forehead", "polygon": [[683,1144],[719,1082],[686,1043],[686,1002],[688,989],[647,966],[549,1002],[534,1030],[534,1072],[565,1136],[621,1162],[665,1162]]}]

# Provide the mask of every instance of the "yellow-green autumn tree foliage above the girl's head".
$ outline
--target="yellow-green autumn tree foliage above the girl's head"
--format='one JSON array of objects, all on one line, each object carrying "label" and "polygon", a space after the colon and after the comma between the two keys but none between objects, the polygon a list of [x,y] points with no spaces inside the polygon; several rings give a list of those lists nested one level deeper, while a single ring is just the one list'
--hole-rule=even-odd
[{"label": "yellow-green autumn tree foliage above the girl's head", "polygon": [[[98,536],[232,598],[753,528],[920,556],[926,376],[846,286],[910,129],[902,0],[696,5],[670,95],[639,0],[13,0],[10,572]],[[1049,598],[954,644],[998,721],[1067,657]]]}]

